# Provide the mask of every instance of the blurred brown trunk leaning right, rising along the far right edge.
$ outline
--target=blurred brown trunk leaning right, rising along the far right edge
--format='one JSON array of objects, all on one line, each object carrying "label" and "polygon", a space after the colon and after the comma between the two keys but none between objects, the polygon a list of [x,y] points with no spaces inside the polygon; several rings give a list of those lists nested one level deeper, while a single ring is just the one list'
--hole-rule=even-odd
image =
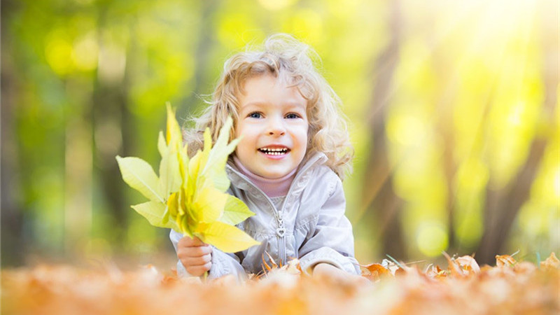
[{"label": "blurred brown trunk leaning right, rising along the far right edge", "polygon": [[[542,9],[541,31],[543,34],[552,34],[557,28],[557,21],[553,10]],[[556,29],[557,31],[557,29]],[[548,38],[542,36],[542,38]],[[558,40],[558,38],[555,38]],[[545,83],[545,99],[542,106],[540,119],[548,120],[548,126],[554,126],[554,107],[558,102],[558,82],[560,82],[559,69],[559,43],[557,41],[543,40],[543,51],[547,55],[543,56],[542,81]],[[547,134],[536,134],[531,143],[527,159],[519,168],[517,175],[510,183],[501,190],[486,188],[486,202],[484,207],[484,234],[476,251],[476,258],[479,263],[493,265],[496,263],[496,255],[505,254],[507,236],[512,225],[517,218],[519,210],[528,200],[531,193],[531,186],[535,176],[538,174],[542,157],[545,154],[548,139]]]}]

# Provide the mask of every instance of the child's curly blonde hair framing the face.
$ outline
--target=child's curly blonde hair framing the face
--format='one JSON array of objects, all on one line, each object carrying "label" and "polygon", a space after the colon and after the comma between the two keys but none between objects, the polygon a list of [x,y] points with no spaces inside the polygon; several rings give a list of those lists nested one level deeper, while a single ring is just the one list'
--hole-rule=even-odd
[{"label": "child's curly blonde hair framing the face", "polygon": [[339,109],[342,102],[318,73],[316,62],[320,62],[316,52],[288,34],[269,36],[261,49],[238,52],[230,57],[211,100],[207,101],[209,106],[200,117],[192,118],[194,128],[183,130],[188,154],[193,156],[203,147],[202,134],[207,127],[216,141],[228,116],[234,120],[230,131],[233,139],[239,120],[238,95],[244,93],[244,83],[248,78],[270,74],[286,80],[290,87],[297,87],[307,99],[309,131],[304,160],[322,152],[328,158],[325,164],[344,179],[344,175],[351,172],[354,151],[345,116]]}]

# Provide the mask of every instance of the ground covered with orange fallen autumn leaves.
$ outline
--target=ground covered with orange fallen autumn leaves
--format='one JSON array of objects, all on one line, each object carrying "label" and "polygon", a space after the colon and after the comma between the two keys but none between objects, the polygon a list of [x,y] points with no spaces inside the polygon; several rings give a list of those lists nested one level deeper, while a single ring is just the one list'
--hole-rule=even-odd
[{"label": "ground covered with orange fallen autumn leaves", "polygon": [[363,266],[370,281],[300,274],[297,264],[244,283],[202,283],[142,267],[78,269],[43,265],[1,274],[1,314],[560,314],[560,261],[534,265],[496,256],[479,267],[470,256],[445,268],[393,263]]}]

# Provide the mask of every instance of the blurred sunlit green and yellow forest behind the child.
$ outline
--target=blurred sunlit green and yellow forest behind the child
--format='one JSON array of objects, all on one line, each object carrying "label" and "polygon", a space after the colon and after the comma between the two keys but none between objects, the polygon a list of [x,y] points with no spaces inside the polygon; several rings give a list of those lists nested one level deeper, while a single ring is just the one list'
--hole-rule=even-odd
[{"label": "blurred sunlit green and yellow forest behind the child", "polygon": [[554,0],[1,1],[1,265],[161,263],[116,155],[156,166],[223,62],[286,32],[321,56],[356,148],[356,258],[560,248]]}]

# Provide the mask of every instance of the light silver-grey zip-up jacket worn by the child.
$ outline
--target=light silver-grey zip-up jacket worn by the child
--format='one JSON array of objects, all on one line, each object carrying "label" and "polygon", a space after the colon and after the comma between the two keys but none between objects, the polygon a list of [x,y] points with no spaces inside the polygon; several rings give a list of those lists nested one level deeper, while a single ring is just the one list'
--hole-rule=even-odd
[{"label": "light silver-grey zip-up jacket worn by the child", "polygon": [[[281,209],[276,209],[262,190],[228,162],[226,172],[231,181],[228,192],[255,212],[255,216],[237,227],[260,241],[260,245],[238,253],[212,248],[210,278],[235,274],[238,279],[244,279],[246,273],[263,272],[262,259],[270,265],[267,253],[281,265],[286,265],[290,258],[298,258],[304,272],[319,262],[327,262],[351,274],[360,273],[353,258],[352,225],[344,216],[346,200],[342,182],[323,165],[326,160],[323,153],[317,153],[304,162]],[[176,251],[183,235],[172,230],[169,237]],[[188,275],[181,260],[177,272]]]}]

